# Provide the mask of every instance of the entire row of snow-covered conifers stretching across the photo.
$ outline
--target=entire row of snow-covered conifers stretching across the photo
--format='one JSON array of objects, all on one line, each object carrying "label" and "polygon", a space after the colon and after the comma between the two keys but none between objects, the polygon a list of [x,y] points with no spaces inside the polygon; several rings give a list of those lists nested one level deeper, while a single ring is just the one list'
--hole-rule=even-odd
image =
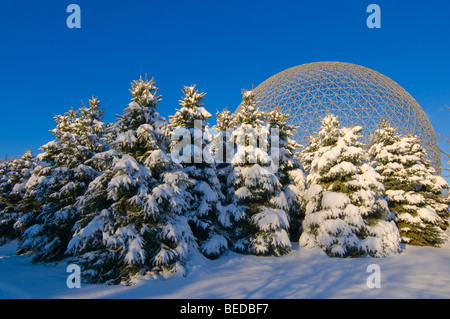
[{"label": "entire row of snow-covered conifers stretching across the photo", "polygon": [[55,140],[37,157],[0,163],[0,241],[118,283],[184,272],[193,251],[280,256],[300,240],[330,256],[383,257],[446,238],[447,183],[420,141],[388,123],[366,146],[361,127],[330,114],[300,151],[288,115],[260,112],[252,91],[239,113],[216,114],[215,134],[196,86],[169,120],[153,79],[130,92],[114,123],[93,98],[55,117]]}]

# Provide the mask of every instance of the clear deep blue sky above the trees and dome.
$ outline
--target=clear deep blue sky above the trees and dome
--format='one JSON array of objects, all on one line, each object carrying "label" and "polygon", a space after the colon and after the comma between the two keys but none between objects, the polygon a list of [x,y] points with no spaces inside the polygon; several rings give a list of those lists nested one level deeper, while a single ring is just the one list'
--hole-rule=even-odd
[{"label": "clear deep blue sky above the trees and dome", "polygon": [[[66,8],[81,7],[81,29]],[[381,29],[366,8],[381,7]],[[45,0],[0,3],[0,158],[53,139],[54,114],[98,96],[114,121],[130,82],[155,77],[169,116],[183,85],[211,113],[289,67],[342,61],[374,69],[450,135],[450,2],[443,0]],[[214,124],[214,120],[211,121]]]}]

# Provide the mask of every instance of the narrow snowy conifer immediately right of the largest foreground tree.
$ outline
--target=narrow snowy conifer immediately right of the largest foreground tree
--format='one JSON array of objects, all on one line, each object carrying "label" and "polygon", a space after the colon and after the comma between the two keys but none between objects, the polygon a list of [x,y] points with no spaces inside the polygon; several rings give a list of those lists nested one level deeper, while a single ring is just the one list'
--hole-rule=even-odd
[{"label": "narrow snowy conifer immediately right of the largest foreground tree", "polygon": [[219,220],[223,194],[209,152],[211,135],[207,120],[211,114],[201,103],[205,93],[196,86],[185,86],[181,108],[170,117],[172,128],[172,157],[178,158],[194,185],[189,188],[193,197],[186,216],[200,251],[208,258],[217,258],[228,249]]}]

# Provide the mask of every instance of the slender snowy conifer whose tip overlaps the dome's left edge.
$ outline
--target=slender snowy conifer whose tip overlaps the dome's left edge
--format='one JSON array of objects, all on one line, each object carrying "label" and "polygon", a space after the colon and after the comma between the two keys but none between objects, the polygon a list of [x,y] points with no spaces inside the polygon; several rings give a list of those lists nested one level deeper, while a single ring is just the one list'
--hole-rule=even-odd
[{"label": "slender snowy conifer whose tip overlaps the dome's left edge", "polygon": [[280,256],[291,250],[289,217],[282,185],[268,153],[269,129],[252,91],[244,90],[241,111],[233,118],[237,150],[227,186],[234,249]]}]

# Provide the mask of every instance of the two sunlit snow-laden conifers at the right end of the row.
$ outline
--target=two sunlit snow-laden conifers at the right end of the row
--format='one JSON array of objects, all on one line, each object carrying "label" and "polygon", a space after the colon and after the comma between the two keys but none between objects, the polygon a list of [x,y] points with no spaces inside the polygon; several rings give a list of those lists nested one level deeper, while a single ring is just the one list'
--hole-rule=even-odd
[{"label": "two sunlit snow-laden conifers at the right end of the row", "polygon": [[302,246],[332,256],[387,256],[400,242],[439,246],[446,239],[445,180],[420,140],[388,123],[361,144],[361,127],[340,128],[329,115],[301,152],[308,171]]}]

